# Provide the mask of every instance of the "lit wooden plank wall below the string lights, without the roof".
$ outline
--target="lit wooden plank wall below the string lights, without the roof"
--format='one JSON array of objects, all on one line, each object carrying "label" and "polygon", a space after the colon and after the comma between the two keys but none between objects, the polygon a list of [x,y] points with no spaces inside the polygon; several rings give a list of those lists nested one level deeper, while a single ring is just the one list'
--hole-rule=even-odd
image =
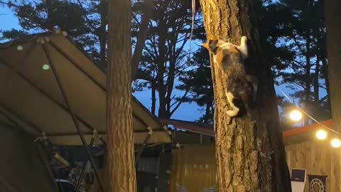
[{"label": "lit wooden plank wall below the string lights, without the roof", "polygon": [[[307,174],[326,175],[326,192],[341,192],[341,149],[330,146],[329,141],[286,144],[289,169],[306,169]],[[309,191],[308,176],[305,192]]]}]

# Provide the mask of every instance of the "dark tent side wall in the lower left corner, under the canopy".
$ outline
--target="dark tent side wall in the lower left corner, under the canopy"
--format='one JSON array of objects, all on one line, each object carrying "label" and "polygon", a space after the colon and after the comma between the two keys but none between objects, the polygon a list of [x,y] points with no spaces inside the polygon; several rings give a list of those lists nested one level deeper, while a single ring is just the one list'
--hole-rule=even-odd
[{"label": "dark tent side wall in the lower left corner, under the canopy", "polygon": [[0,191],[58,192],[36,138],[0,122]]}]

